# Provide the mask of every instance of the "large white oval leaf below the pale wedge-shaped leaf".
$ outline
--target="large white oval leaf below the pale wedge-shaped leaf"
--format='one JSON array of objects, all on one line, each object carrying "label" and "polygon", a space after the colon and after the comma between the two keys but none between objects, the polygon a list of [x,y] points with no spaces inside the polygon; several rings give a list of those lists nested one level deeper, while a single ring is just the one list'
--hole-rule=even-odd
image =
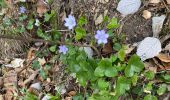
[{"label": "large white oval leaf below the pale wedge-shaped leaf", "polygon": [[137,55],[142,61],[153,58],[161,52],[160,40],[154,37],[146,37],[137,48]]}]

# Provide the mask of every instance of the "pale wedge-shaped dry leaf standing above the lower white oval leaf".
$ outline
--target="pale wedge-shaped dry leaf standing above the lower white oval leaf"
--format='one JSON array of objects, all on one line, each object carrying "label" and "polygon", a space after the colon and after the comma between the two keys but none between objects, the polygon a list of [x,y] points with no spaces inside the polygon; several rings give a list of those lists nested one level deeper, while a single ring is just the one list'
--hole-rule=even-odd
[{"label": "pale wedge-shaped dry leaf standing above the lower white oval leaf", "polygon": [[153,37],[159,37],[159,33],[162,30],[162,26],[163,26],[165,18],[166,18],[165,15],[152,18]]}]

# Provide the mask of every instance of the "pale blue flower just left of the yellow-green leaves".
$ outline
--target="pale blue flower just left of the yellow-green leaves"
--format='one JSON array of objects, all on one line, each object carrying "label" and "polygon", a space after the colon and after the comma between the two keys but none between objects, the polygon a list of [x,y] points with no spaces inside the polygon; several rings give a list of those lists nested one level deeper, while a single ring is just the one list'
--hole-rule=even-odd
[{"label": "pale blue flower just left of the yellow-green leaves", "polygon": [[73,29],[76,26],[76,20],[74,18],[74,16],[69,15],[68,18],[65,18],[65,24],[66,27],[68,27],[68,29]]}]

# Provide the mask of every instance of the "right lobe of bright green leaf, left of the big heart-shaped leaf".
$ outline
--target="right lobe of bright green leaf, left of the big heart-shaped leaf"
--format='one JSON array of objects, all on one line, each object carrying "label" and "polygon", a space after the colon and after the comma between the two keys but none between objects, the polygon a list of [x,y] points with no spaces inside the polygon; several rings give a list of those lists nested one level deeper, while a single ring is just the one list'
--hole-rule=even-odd
[{"label": "right lobe of bright green leaf, left of the big heart-shaped leaf", "polygon": [[115,77],[118,75],[117,69],[115,67],[107,67],[105,70],[105,76]]}]

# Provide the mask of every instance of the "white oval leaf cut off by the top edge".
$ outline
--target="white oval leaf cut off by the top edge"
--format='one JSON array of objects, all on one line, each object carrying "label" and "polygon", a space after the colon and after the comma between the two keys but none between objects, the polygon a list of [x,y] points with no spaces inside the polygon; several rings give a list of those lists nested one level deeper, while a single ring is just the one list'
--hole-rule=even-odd
[{"label": "white oval leaf cut off by the top edge", "polygon": [[123,16],[134,14],[138,11],[140,5],[141,0],[120,0],[117,11],[119,11]]}]

